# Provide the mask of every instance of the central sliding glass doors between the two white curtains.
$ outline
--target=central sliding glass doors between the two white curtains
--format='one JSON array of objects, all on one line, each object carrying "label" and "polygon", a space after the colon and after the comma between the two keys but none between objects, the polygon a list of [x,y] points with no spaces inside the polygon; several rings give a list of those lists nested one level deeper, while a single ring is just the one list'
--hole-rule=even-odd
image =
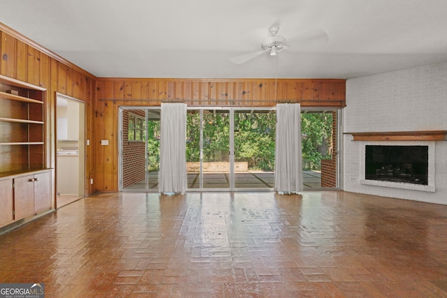
[{"label": "central sliding glass doors between the two white curtains", "polygon": [[272,189],[274,110],[189,110],[186,170],[191,190]]}]

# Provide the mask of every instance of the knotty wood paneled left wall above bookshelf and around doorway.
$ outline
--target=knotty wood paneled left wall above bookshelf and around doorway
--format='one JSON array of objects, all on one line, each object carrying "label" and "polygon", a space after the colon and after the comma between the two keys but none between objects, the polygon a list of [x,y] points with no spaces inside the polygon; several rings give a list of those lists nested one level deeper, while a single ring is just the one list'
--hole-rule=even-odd
[{"label": "knotty wood paneled left wall above bookshelf and around doorway", "polygon": [[[77,98],[85,103],[87,138],[91,139],[92,94],[95,77],[78,66],[65,61],[0,23],[0,73],[23,82],[45,87],[45,166],[52,169],[52,207],[55,199],[56,142],[54,112],[56,92]],[[87,147],[86,194],[91,194],[90,177],[94,169],[93,148]]]}]

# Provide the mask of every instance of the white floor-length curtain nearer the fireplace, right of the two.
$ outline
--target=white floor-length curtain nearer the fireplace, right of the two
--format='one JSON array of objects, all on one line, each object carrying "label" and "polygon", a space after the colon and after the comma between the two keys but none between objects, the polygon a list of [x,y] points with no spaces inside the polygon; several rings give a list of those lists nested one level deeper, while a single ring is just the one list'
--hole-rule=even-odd
[{"label": "white floor-length curtain nearer the fireplace, right of the two", "polygon": [[277,104],[274,190],[302,191],[301,120],[299,103]]}]

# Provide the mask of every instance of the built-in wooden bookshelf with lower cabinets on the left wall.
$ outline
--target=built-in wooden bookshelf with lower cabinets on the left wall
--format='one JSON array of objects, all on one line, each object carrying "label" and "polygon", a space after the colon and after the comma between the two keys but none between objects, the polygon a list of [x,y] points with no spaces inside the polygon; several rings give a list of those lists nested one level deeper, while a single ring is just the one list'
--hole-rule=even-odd
[{"label": "built-in wooden bookshelf with lower cabinets on the left wall", "polygon": [[45,88],[0,75],[0,227],[52,207],[44,98]]}]

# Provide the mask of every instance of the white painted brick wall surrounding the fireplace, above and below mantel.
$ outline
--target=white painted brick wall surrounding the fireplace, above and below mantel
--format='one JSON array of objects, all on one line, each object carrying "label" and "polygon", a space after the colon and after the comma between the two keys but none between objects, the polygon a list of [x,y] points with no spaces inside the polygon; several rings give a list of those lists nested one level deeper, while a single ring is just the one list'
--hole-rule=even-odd
[{"label": "white painted brick wall surrounding the fireplace, above and below mantel", "polygon": [[[447,62],[346,82],[343,131],[447,131]],[[447,204],[447,141],[435,145],[436,192],[359,183],[360,146],[344,134],[344,191]]]}]

